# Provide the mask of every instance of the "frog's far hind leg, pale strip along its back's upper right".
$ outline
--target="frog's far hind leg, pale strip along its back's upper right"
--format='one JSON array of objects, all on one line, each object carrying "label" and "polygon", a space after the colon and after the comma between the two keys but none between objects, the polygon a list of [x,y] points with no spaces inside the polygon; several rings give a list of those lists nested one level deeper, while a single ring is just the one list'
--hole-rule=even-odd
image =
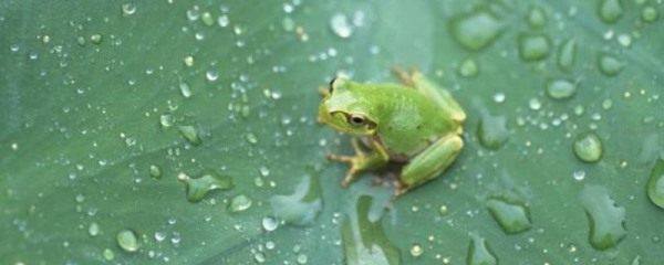
[{"label": "frog's far hind leg, pale strip along its back's upper right", "polygon": [[427,80],[422,73],[414,71],[411,80],[415,84],[415,88],[422,92],[427,97],[436,102],[449,117],[463,123],[466,119],[466,113],[461,106],[452,97],[448,91],[438,87],[436,84]]}]

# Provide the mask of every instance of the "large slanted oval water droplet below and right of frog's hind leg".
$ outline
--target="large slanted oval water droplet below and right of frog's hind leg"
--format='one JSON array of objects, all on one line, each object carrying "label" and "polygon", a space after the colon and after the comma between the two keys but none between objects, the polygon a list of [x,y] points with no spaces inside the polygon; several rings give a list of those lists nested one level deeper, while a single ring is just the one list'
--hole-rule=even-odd
[{"label": "large slanted oval water droplet below and right of frog's hind leg", "polygon": [[532,225],[530,211],[523,202],[492,197],[487,200],[487,208],[505,233],[523,232]]}]

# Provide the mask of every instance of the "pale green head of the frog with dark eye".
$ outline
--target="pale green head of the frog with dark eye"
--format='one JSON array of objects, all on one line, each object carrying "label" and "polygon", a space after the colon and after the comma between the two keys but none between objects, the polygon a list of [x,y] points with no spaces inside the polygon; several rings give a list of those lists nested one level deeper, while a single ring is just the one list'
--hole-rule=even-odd
[{"label": "pale green head of the frog with dark eye", "polygon": [[376,123],[367,117],[362,97],[353,89],[354,84],[343,77],[330,82],[328,95],[319,107],[319,121],[350,135],[373,135]]}]

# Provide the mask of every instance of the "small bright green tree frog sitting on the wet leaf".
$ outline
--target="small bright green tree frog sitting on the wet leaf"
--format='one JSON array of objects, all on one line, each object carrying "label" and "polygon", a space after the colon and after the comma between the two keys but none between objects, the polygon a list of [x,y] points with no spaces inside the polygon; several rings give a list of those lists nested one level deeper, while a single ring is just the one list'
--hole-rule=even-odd
[{"label": "small bright green tree frog sitting on the wet leaf", "polygon": [[356,83],[338,77],[321,89],[319,121],[351,135],[354,156],[330,153],[350,165],[341,182],[388,162],[404,166],[394,197],[439,177],[456,159],[466,114],[449,92],[417,71],[394,68],[403,84]]}]

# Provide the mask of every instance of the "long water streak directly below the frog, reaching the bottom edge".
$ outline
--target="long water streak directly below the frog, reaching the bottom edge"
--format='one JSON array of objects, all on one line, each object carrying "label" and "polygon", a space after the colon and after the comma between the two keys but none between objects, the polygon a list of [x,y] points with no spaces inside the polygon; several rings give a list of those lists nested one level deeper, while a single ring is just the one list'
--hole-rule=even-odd
[{"label": "long water streak directly below the frog, reaching the bottom edge", "polygon": [[383,231],[381,215],[372,215],[373,198],[360,195],[355,205],[345,214],[341,239],[349,265],[400,264],[398,248],[388,241]]}]

